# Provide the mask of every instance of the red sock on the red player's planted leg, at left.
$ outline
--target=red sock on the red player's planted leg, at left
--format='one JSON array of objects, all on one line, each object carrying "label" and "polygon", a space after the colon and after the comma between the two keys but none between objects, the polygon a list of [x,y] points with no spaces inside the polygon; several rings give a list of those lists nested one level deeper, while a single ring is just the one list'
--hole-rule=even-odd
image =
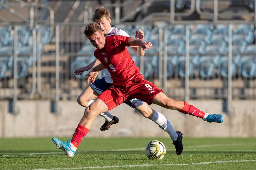
[{"label": "red sock on the red player's planted leg, at left", "polygon": [[70,142],[77,148],[89,131],[90,130],[87,129],[86,127],[82,126],[81,124],[78,124],[76,131]]}]

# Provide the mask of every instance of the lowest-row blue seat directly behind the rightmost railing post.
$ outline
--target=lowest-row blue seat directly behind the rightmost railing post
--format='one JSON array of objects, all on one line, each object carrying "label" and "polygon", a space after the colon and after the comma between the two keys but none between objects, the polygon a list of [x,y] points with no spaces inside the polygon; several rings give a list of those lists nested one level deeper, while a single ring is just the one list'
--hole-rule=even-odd
[{"label": "lowest-row blue seat directly behind the rightmost railing post", "polygon": [[[238,70],[238,65],[233,60],[231,64],[232,77],[236,76],[237,70]],[[219,64],[219,72],[222,77],[228,78],[228,57],[227,56],[221,57],[220,64]]]}]

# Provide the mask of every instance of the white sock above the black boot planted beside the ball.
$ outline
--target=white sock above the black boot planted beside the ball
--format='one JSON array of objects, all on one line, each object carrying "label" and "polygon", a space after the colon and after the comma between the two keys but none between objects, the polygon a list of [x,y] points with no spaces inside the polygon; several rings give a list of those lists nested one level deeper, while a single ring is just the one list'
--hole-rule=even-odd
[{"label": "white sock above the black boot planted beside the ball", "polygon": [[170,135],[172,140],[177,140],[177,132],[173,129],[172,124],[166,119],[166,117],[162,113],[155,111],[155,114],[151,120],[158,124],[158,126],[164,131],[166,131]]}]

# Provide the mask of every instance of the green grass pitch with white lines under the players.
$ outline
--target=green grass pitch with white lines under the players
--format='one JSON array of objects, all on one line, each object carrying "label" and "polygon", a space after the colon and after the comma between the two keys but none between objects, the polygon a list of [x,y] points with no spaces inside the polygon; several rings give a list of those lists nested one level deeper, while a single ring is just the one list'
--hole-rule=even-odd
[{"label": "green grass pitch with white lines under the players", "polygon": [[[170,138],[85,138],[68,158],[50,137],[0,138],[0,169],[256,169],[255,139],[185,136],[177,156]],[[151,140],[164,143],[164,159],[147,158]]]}]

